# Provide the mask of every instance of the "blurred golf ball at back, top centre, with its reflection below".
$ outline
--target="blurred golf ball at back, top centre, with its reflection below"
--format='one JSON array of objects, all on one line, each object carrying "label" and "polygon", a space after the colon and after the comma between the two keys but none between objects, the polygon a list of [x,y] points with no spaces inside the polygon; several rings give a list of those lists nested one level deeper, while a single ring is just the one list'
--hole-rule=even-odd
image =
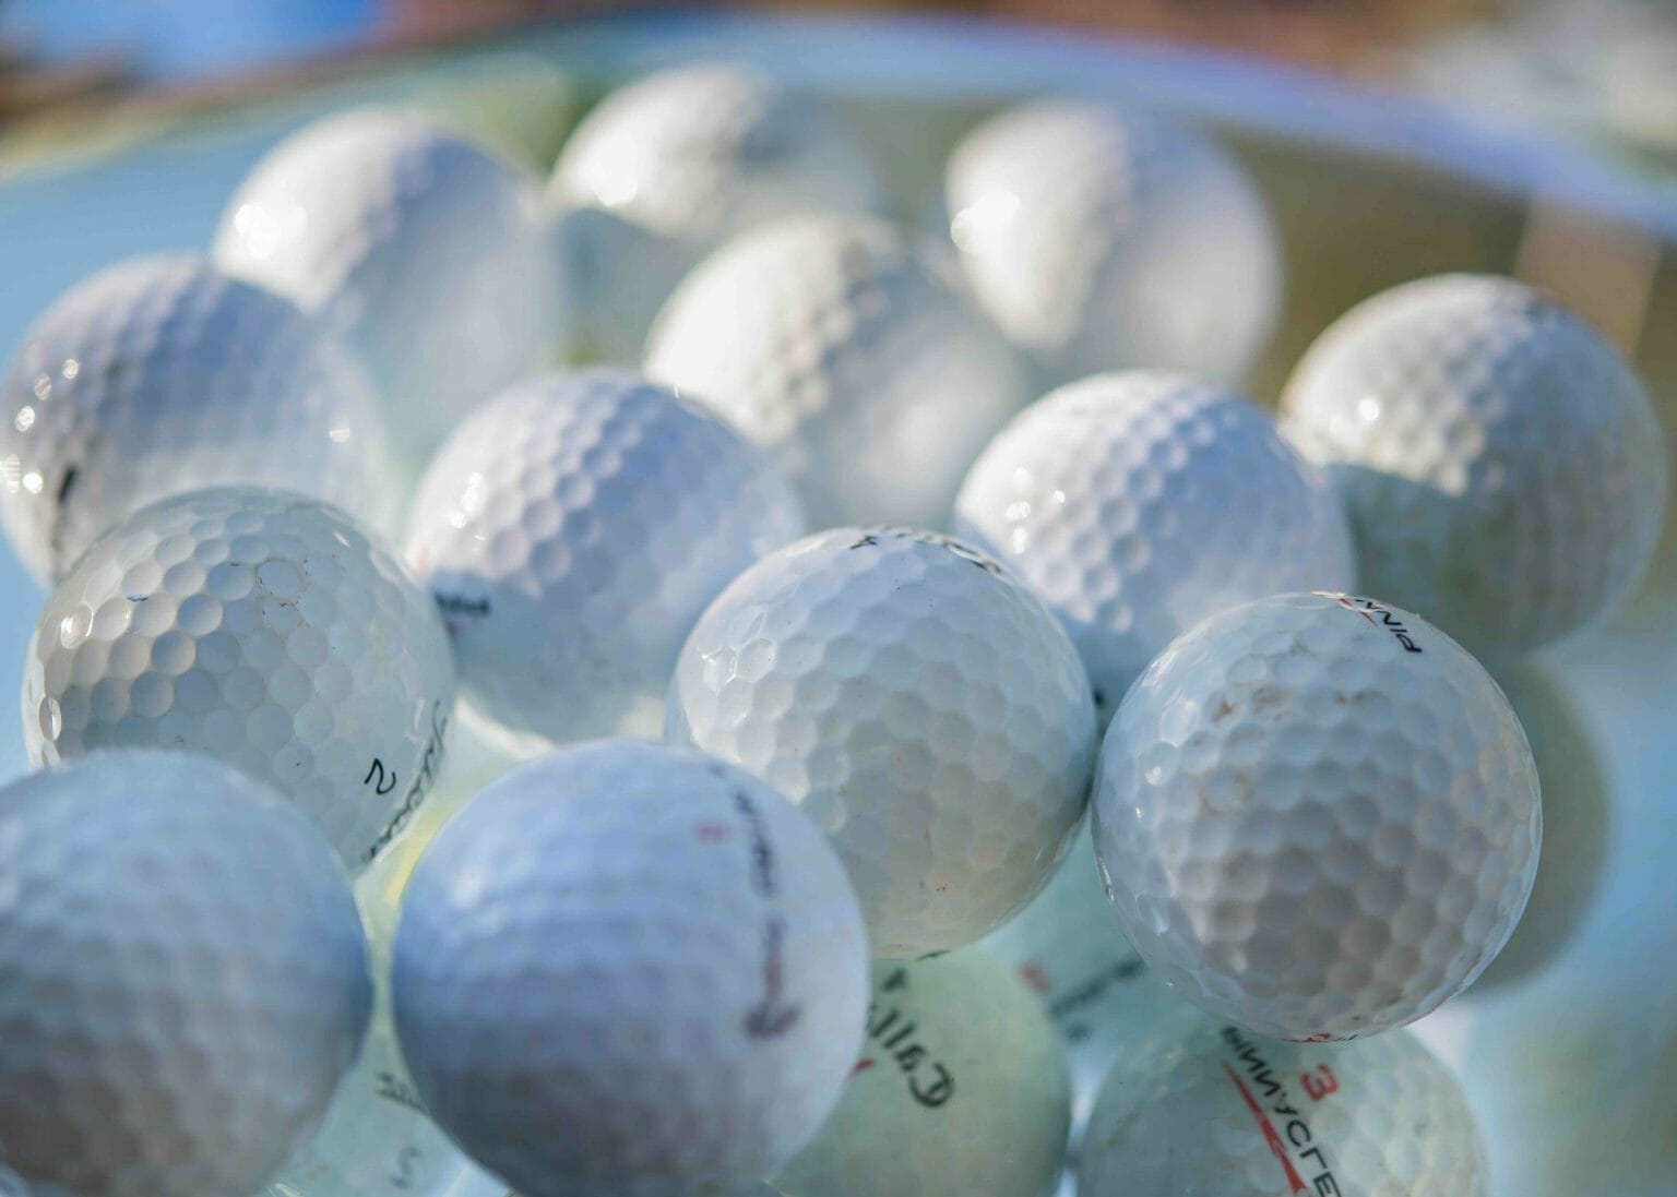
[{"label": "blurred golf ball at back, top centre, with its reflection below", "polygon": [[803,211],[882,213],[867,146],[820,104],[733,64],[661,70],[565,142],[565,213],[595,352],[636,360],[657,307],[726,236]]}]

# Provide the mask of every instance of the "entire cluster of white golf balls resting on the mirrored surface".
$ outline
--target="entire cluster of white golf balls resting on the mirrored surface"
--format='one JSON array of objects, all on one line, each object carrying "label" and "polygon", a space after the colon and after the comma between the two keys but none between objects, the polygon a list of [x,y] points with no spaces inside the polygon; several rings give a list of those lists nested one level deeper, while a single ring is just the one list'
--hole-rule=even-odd
[{"label": "entire cluster of white golf balls resting on the mirrored surface", "polygon": [[1635,374],[1444,277],[1278,422],[1276,225],[1206,134],[999,112],[944,246],[885,183],[728,64],[545,198],[352,111],[40,317],[0,1190],[1489,1192],[1400,1028],[1531,894],[1469,649],[1633,587]]}]

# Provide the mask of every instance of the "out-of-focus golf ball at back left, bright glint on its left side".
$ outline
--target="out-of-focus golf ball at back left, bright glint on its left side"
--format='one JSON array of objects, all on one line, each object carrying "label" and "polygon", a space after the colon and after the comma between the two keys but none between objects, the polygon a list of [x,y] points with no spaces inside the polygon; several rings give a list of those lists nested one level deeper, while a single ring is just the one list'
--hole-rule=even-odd
[{"label": "out-of-focus golf ball at back left, bright glint on its left side", "polygon": [[280,142],[228,203],[215,260],[344,334],[409,471],[563,332],[533,181],[413,112],[350,111]]}]

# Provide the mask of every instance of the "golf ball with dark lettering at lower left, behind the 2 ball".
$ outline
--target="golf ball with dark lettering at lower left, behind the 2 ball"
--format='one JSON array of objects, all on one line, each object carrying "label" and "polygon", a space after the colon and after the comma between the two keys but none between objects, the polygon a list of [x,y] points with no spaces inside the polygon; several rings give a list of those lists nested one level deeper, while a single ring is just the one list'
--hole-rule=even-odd
[{"label": "golf ball with dark lettering at lower left, behind the 2 ball", "polygon": [[624,370],[532,382],[471,416],[409,515],[471,704],[545,739],[664,728],[704,605],[803,533],[773,459]]}]

